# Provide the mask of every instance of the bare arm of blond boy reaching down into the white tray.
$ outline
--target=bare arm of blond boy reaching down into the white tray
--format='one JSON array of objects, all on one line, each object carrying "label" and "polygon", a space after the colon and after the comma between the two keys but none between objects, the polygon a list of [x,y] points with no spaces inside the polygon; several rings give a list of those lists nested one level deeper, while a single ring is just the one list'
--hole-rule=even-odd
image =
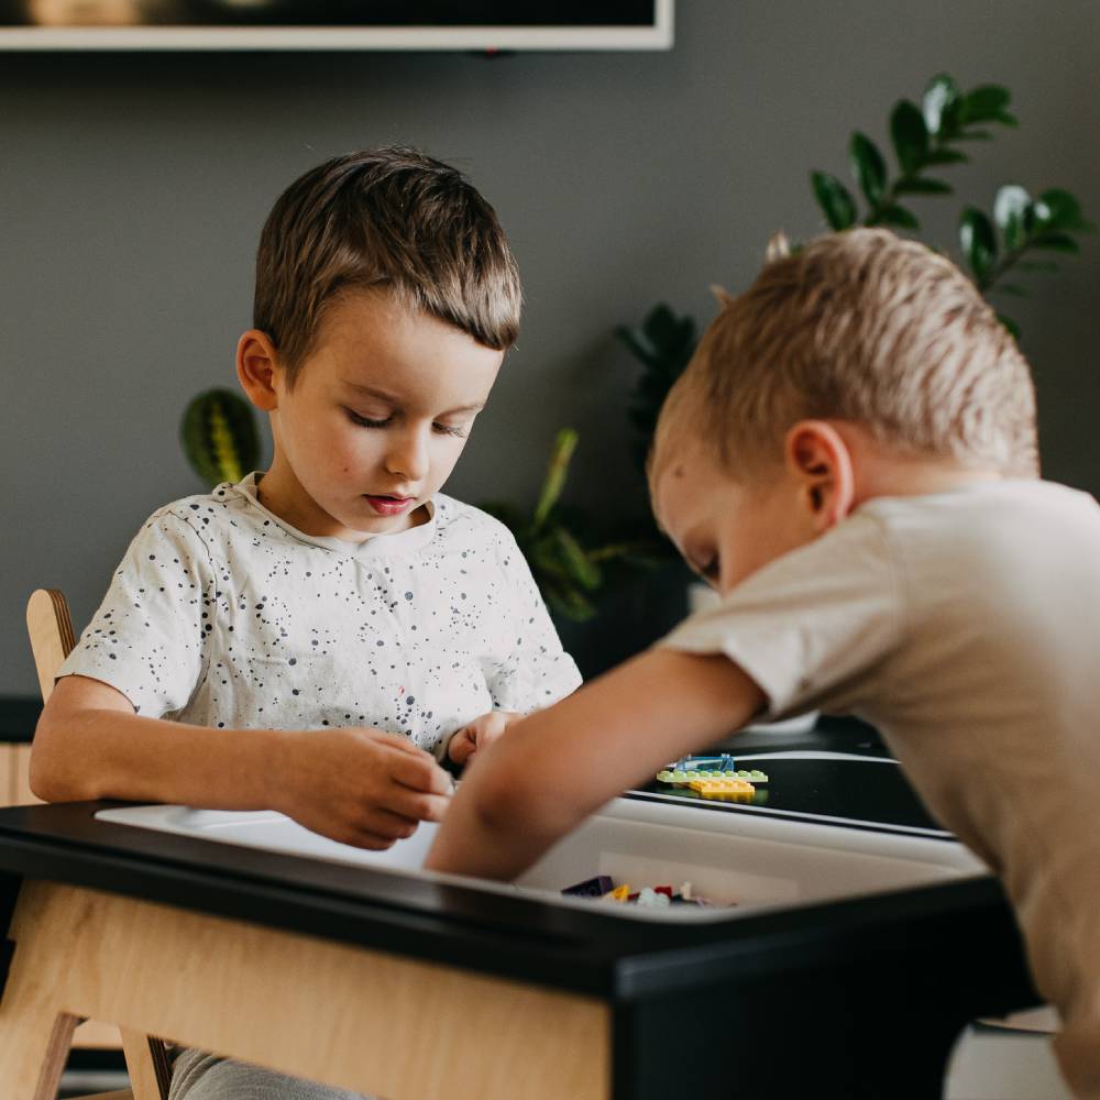
[{"label": "bare arm of blond boy reaching down into the white tray", "polygon": [[726,657],[642,653],[479,756],[425,866],[514,878],[609,799],[745,725],[763,702]]}]

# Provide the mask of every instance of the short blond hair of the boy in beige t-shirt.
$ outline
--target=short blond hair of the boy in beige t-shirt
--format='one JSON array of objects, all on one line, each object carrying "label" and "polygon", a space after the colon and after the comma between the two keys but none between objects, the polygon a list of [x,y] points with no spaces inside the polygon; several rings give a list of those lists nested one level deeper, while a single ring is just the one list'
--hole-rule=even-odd
[{"label": "short blond hair of the boy in beige t-shirt", "polygon": [[662,466],[690,432],[738,476],[781,461],[787,430],[821,418],[858,424],[897,453],[1037,474],[1027,363],[948,260],[881,229],[769,258],[725,297],[670,392],[654,435]]}]

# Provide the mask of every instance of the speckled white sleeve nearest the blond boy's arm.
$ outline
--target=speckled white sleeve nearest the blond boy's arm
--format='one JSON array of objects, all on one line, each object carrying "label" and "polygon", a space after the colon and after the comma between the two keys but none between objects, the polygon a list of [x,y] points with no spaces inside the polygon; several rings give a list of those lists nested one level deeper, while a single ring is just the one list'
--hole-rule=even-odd
[{"label": "speckled white sleeve nearest the blond boy's arm", "polygon": [[493,708],[530,714],[581,686],[581,673],[564,651],[530,566],[512,532],[501,529],[501,568],[510,593],[507,656],[485,670]]}]

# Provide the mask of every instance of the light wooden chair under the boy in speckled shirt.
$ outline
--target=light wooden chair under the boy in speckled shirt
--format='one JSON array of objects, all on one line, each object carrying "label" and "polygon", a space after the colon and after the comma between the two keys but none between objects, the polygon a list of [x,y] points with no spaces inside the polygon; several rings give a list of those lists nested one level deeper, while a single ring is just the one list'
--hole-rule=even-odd
[{"label": "light wooden chair under the boy in speckled shirt", "polygon": [[[32,592],[26,604],[26,629],[31,636],[31,652],[38,673],[42,701],[45,703],[54,690],[57,670],[76,645],[73,618],[64,593],[57,588],[37,588]],[[74,1028],[78,1028],[75,1038],[77,1046],[121,1046],[131,1081],[131,1088],[121,1092],[99,1093],[84,1100],[167,1100],[172,1070],[162,1040],[70,1016],[58,1021],[55,1028],[57,1049],[52,1052],[52,1056],[67,1056],[74,1041]]]}]

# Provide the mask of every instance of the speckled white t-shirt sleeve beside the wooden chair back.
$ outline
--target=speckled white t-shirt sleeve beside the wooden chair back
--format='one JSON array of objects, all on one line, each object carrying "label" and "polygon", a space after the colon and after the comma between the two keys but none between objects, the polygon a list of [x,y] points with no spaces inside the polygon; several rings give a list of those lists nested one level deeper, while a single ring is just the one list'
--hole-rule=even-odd
[{"label": "speckled white t-shirt sleeve beside the wooden chair back", "polygon": [[154,514],[58,678],[101,680],[150,717],[179,711],[206,674],[211,580],[198,534],[170,512]]}]

